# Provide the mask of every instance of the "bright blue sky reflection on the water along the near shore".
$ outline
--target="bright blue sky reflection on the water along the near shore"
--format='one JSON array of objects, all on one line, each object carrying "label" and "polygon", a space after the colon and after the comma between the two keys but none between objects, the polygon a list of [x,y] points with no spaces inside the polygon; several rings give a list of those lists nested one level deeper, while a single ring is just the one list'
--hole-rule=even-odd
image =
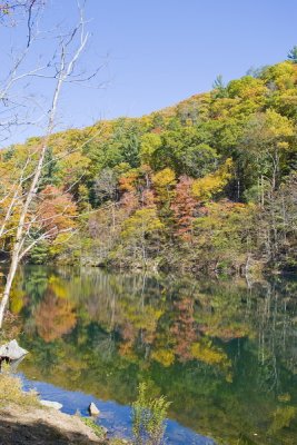
[{"label": "bright blue sky reflection on the water along the near shore", "polygon": [[[48,383],[32,382],[23,376],[21,377],[26,390],[34,388],[41,398],[61,403],[63,413],[75,414],[78,409],[83,416],[87,416],[89,404],[95,402],[100,409],[99,423],[108,428],[111,436],[118,435],[127,438],[130,436],[131,409],[129,406],[119,405],[116,402],[102,402],[80,392],[65,390]],[[167,422],[166,443],[172,445],[215,445],[214,441],[200,436],[174,421]]]}]

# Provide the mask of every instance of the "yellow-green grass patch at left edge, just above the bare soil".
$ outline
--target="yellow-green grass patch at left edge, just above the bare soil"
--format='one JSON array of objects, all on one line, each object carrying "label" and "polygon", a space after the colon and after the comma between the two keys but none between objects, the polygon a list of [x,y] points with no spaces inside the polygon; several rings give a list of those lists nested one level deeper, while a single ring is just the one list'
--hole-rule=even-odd
[{"label": "yellow-green grass patch at left edge, just above the bare soil", "polygon": [[0,374],[0,408],[9,404],[18,406],[39,406],[37,393],[23,393],[21,380],[8,373]]}]

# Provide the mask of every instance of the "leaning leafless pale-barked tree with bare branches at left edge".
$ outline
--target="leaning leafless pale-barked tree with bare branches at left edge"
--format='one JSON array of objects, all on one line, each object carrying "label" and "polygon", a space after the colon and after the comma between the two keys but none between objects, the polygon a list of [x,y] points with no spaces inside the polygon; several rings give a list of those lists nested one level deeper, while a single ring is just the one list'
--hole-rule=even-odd
[{"label": "leaning leafless pale-barked tree with bare branches at left edge", "polygon": [[[17,62],[17,65],[14,65],[14,68],[12,69],[11,73],[8,78],[7,85],[4,86],[4,88],[2,88],[2,91],[0,91],[0,101],[6,100],[8,91],[12,88],[12,86],[16,82],[21,81],[22,79],[31,77],[31,76],[39,76],[39,75],[43,76],[42,70],[44,67],[38,67],[37,69],[28,71],[26,73],[18,73],[19,66],[24,60],[24,56],[32,42],[32,33],[31,33],[32,21],[31,20],[32,20],[32,7],[34,6],[34,3],[36,3],[36,1],[31,0],[30,7],[29,7],[29,14],[28,14],[29,37],[28,37],[28,42],[27,42],[27,49],[24,50],[22,57],[19,59],[19,62]],[[0,327],[2,326],[4,308],[8,304],[11,285],[12,285],[12,281],[13,281],[13,278],[16,275],[16,270],[17,270],[17,267],[18,267],[20,260],[23,258],[23,256],[26,256],[30,251],[30,249],[32,249],[32,247],[36,244],[38,244],[42,239],[49,239],[50,237],[52,237],[53,234],[57,233],[56,226],[50,227],[48,230],[41,231],[40,235],[37,236],[37,238],[34,238],[27,245],[28,240],[31,239],[31,235],[30,235],[31,227],[34,224],[34,221],[37,220],[38,215],[34,215],[30,219],[29,222],[27,221],[27,219],[28,219],[28,216],[30,215],[30,212],[32,211],[32,204],[34,202],[34,198],[36,198],[37,191],[38,191],[38,185],[39,185],[39,181],[40,181],[40,178],[42,175],[42,169],[44,167],[44,158],[46,158],[46,154],[48,150],[50,136],[55,128],[55,119],[57,116],[57,108],[58,108],[58,102],[59,102],[60,93],[62,90],[62,86],[67,81],[67,79],[73,75],[77,62],[87,46],[88,39],[89,39],[89,33],[85,32],[85,20],[83,20],[82,11],[80,10],[80,21],[79,21],[78,26],[75,27],[72,32],[70,32],[67,37],[60,39],[59,63],[56,65],[56,67],[55,67],[56,72],[53,75],[53,79],[56,80],[56,86],[53,89],[51,106],[47,113],[48,122],[47,122],[46,135],[42,138],[41,146],[37,152],[38,159],[37,159],[37,164],[34,166],[33,172],[30,175],[30,179],[29,179],[30,185],[28,187],[28,191],[26,192],[26,196],[23,196],[23,199],[21,200],[21,205],[18,206],[19,217],[18,217],[17,227],[16,227],[16,240],[14,240],[14,244],[12,247],[11,263],[10,263],[10,269],[9,269],[9,273],[7,276],[6,287],[4,287],[2,299],[0,303]],[[77,48],[75,50],[72,50],[72,47],[73,47],[73,44],[76,44],[77,40],[78,40]],[[4,222],[2,225],[2,234],[4,233],[4,227],[10,219],[12,209],[14,208],[17,200],[18,200],[18,205],[19,205],[19,200],[20,200],[19,189],[24,180],[24,177],[23,177],[24,171],[26,171],[26,168],[22,170],[23,174],[20,177],[19,184],[14,190],[13,198],[9,205],[9,209],[4,217]],[[63,209],[62,214],[66,210],[67,210],[67,206]],[[57,215],[55,217],[57,218]],[[39,221],[39,222],[41,222],[41,221]],[[42,222],[41,222],[41,227],[42,227]],[[69,230],[72,230],[72,228],[61,229],[60,231],[63,233],[63,231],[69,231]]]}]

